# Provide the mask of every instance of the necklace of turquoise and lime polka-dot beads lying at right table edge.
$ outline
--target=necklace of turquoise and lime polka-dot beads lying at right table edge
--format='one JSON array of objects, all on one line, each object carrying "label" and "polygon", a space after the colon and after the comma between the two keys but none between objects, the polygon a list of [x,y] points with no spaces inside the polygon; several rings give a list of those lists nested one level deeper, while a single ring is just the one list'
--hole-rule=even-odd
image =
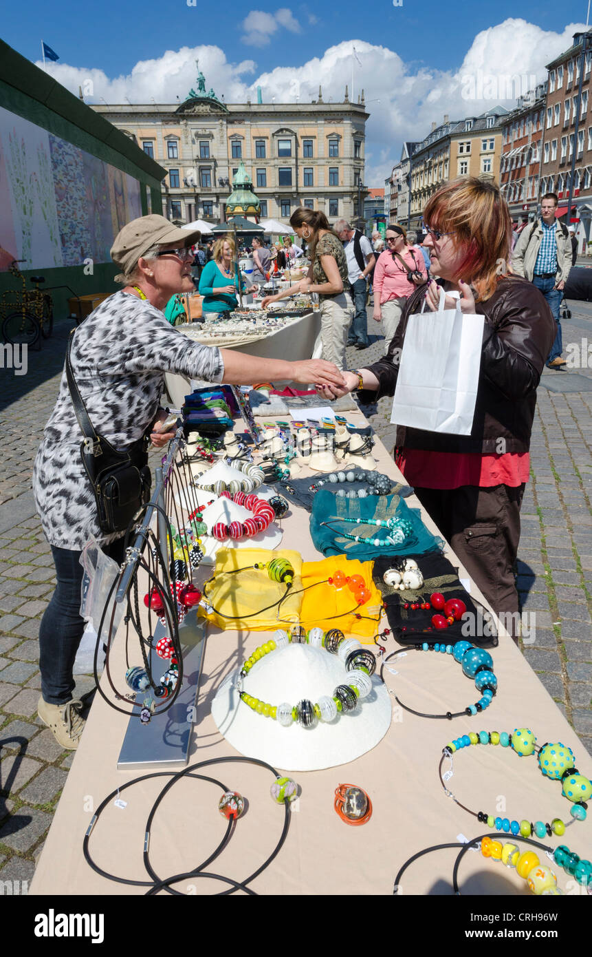
[{"label": "necklace of turquoise and lime polka-dot beads lying at right table edge", "polygon": [[[578,768],[575,767],[576,762],[571,747],[562,745],[560,742],[558,744],[546,744],[542,747],[537,747],[536,741],[537,737],[530,728],[521,727],[515,728],[512,734],[508,734],[507,731],[479,731],[478,734],[472,732],[471,734],[465,734],[449,742],[442,751],[442,757],[438,766],[440,783],[444,788],[446,796],[451,797],[459,808],[472,814],[478,821],[487,823],[489,828],[494,827],[496,831],[504,831],[506,834],[511,832],[515,836],[522,835],[523,837],[529,837],[531,834],[536,834],[537,837],[564,834],[565,828],[573,824],[574,821],[583,821],[585,819],[586,806],[584,801],[588,800],[592,795],[592,783],[590,783],[588,778],[584,777],[583,774],[580,774]],[[562,784],[563,796],[572,802],[570,809],[572,820],[568,821],[567,824],[564,824],[559,817],[555,817],[550,824],[548,822],[544,823],[543,821],[537,821],[533,824],[525,819],[520,822],[517,820],[511,821],[508,817],[493,817],[493,814],[488,814],[484,811],[471,811],[471,808],[467,808],[464,804],[461,804],[447,788],[446,782],[449,781],[453,774],[452,754],[463,747],[469,747],[471,745],[511,746],[520,757],[527,757],[537,752],[537,762],[540,772],[545,777],[559,780]],[[447,759],[449,760],[449,768],[443,774],[442,768]]]}]

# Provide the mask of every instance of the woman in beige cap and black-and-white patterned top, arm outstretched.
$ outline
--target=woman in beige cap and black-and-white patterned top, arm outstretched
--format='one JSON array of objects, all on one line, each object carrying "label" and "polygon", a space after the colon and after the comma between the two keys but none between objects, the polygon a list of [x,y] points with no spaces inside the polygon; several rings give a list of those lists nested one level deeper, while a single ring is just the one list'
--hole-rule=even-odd
[{"label": "woman in beige cap and black-and-white patterned top, arm outstretched", "polygon": [[[340,371],[322,360],[258,359],[199,345],[166,322],[162,310],[170,297],[193,289],[192,244],[199,235],[177,229],[160,215],[128,223],[111,250],[125,288],[101,302],[73,338],[72,368],[89,418],[120,451],[144,434],[150,433],[157,448],[173,437],[173,432],[161,431],[166,412],[159,400],[167,371],[234,385],[274,379],[307,385],[343,382]],[[123,533],[100,532],[93,488],[80,455],[82,439],[64,370],[35,458],[33,491],[57,577],[39,630],[38,713],[60,745],[69,748],[77,747],[83,728],[80,702],[72,701],[72,669],[84,631],[80,553],[94,536],[118,563],[123,558]]]}]

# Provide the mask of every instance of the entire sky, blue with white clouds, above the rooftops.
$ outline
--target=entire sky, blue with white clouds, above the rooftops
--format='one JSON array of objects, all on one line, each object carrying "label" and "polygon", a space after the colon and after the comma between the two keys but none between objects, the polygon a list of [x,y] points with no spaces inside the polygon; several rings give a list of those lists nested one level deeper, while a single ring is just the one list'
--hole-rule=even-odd
[{"label": "entire sky, blue with white clouds, above the rooftops", "polygon": [[[189,6],[195,2],[195,6]],[[310,102],[354,99],[363,88],[366,110],[365,182],[383,186],[404,140],[422,140],[431,123],[479,116],[545,79],[545,64],[571,46],[585,23],[586,0],[545,4],[510,0],[393,6],[393,0],[312,0],[265,8],[248,0],[239,13],[204,0],[28,0],[12,5],[2,38],[40,60],[40,39],[60,59],[55,78],[86,102],[175,102],[195,82],[195,58],[227,102]],[[396,0],[400,2],[400,0]],[[221,12],[224,11],[224,12]],[[33,32],[32,32],[32,24]],[[354,53],[355,51],[355,53]],[[466,78],[499,78],[493,100],[467,97]],[[510,96],[503,77],[514,77]],[[483,90],[495,84],[472,83]]]}]

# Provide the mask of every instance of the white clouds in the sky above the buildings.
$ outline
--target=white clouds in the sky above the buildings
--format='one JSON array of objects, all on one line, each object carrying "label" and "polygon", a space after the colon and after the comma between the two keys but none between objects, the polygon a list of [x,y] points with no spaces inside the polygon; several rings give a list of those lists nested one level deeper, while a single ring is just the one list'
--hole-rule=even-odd
[{"label": "white clouds in the sky above the buildings", "polygon": [[[243,29],[267,39],[271,30],[268,17],[273,21],[274,33],[279,24],[263,11],[252,11]],[[131,74],[112,79],[98,69],[57,63],[49,66],[49,72],[75,94],[78,85],[91,79],[92,101],[99,102],[102,97],[108,103],[122,103],[126,97],[132,103],[149,103],[152,99],[174,102],[177,95],[183,100],[195,83],[197,57],[208,88],[213,87],[218,96],[235,103],[245,102],[249,94],[253,99],[256,86],[261,86],[264,102],[274,97],[276,103],[294,102],[296,98],[305,103],[317,100],[319,84],[325,102],[342,102],[346,84],[352,99],[353,73],[353,100],[358,100],[363,88],[370,114],[366,123],[365,183],[382,187],[400,158],[404,140],[422,140],[431,122],[441,123],[445,113],[450,120],[460,120],[478,116],[498,102],[512,108],[513,95],[525,93],[521,87],[531,78],[537,82],[545,79],[545,64],[567,50],[572,34],[581,29],[570,24],[562,33],[553,33],[523,19],[505,20],[475,36],[457,71],[432,69],[428,63],[407,66],[399,54],[385,46],[352,39],[300,66],[276,67],[256,79],[252,60],[229,63],[216,46],[167,51],[161,57],[140,61]],[[353,57],[354,47],[362,66]],[[511,99],[504,99],[501,95],[508,91],[503,86],[512,75],[518,88],[510,91]]]}]

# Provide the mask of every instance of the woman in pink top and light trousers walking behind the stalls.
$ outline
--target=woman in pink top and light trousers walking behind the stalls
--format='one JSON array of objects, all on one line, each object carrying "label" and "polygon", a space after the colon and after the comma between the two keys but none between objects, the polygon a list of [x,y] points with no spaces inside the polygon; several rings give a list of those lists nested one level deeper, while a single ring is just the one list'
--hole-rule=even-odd
[{"label": "woman in pink top and light trousers walking behind the stalls", "polygon": [[426,282],[428,270],[424,256],[407,243],[403,226],[387,226],[385,238],[386,250],[378,257],[372,284],[374,319],[383,323],[384,342],[388,345],[397,331],[406,300],[416,285]]}]

